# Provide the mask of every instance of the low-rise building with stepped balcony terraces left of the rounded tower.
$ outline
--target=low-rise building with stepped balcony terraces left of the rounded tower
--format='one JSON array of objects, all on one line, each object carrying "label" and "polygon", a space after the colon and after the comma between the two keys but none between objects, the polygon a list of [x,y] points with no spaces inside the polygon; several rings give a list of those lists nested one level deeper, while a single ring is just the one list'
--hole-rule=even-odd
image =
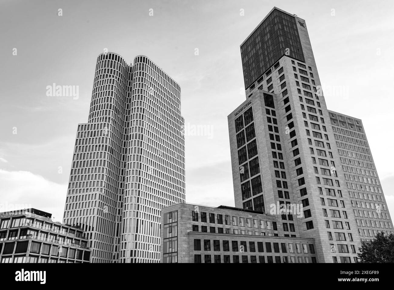
[{"label": "low-rise building with stepped balcony terraces left of the rounded tower", "polygon": [[0,213],[1,263],[89,263],[84,232],[33,208]]}]

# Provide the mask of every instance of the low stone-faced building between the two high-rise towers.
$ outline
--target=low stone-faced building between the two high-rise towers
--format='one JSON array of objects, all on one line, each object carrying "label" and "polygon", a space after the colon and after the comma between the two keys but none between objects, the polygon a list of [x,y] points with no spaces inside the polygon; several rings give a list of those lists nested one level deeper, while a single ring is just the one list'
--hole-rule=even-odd
[{"label": "low stone-faced building between the two high-rise towers", "polygon": [[276,221],[229,206],[167,206],[162,209],[161,262],[316,263],[314,239],[279,230]]}]

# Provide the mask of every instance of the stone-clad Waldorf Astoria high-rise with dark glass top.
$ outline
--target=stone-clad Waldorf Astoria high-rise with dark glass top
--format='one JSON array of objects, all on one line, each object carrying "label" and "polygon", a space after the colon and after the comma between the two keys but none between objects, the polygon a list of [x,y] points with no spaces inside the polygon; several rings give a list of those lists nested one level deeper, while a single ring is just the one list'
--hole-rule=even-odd
[{"label": "stone-clad Waldorf Astoria high-rise with dark glass top", "polygon": [[327,110],[296,15],[274,7],[241,56],[246,100],[228,116],[235,206],[314,238],[318,262],[354,262],[362,241],[393,232],[361,120]]}]

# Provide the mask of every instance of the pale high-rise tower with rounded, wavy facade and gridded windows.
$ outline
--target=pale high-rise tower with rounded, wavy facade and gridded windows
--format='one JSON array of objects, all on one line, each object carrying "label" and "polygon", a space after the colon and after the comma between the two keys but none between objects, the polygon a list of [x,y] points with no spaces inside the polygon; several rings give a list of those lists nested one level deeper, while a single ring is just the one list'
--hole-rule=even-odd
[{"label": "pale high-rise tower with rounded, wavy facade and gridded windows", "polygon": [[160,210],[185,200],[183,126],[180,87],[160,67],[99,55],[63,217],[87,233],[91,262],[160,262]]}]

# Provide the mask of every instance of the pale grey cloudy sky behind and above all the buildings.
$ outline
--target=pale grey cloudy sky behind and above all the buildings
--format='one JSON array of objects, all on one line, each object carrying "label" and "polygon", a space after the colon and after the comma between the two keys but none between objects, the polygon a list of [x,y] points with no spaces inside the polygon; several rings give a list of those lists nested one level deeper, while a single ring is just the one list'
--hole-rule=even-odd
[{"label": "pale grey cloudy sky behind and above all the buildings", "polygon": [[[302,0],[0,0],[0,211],[32,207],[61,221],[106,49],[128,63],[148,56],[180,84],[186,202],[234,206],[227,116],[245,99],[240,44],[274,6],[305,19],[327,107],[362,120],[394,213],[394,6]],[[47,96],[53,83],[78,86],[78,98]]]}]

